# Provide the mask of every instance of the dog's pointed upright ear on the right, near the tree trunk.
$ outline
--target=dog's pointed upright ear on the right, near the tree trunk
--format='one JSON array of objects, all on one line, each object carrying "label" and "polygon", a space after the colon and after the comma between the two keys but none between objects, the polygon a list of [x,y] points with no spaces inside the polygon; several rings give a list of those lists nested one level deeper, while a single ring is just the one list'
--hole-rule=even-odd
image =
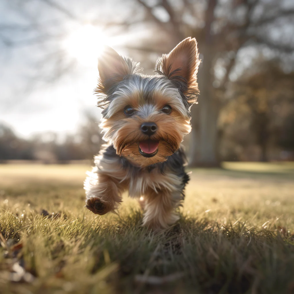
[{"label": "dog's pointed upright ear on the right, near the tree trunk", "polygon": [[195,103],[199,93],[197,71],[201,60],[195,38],[181,41],[169,54],[156,62],[155,70],[177,84],[189,103]]}]

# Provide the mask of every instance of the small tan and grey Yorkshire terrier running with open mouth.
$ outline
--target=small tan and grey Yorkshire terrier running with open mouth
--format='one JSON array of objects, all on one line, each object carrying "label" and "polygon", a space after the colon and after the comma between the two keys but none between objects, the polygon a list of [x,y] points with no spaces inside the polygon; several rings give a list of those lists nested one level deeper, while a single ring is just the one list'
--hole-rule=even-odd
[{"label": "small tan and grey Yorkshire terrier running with open mouth", "polygon": [[176,208],[189,180],[180,143],[191,131],[199,63],[191,38],[163,54],[152,76],[139,74],[139,63],[106,48],[98,59],[95,92],[108,145],[84,183],[86,208],[100,215],[114,211],[128,191],[140,197],[143,225],[158,231],[179,219]]}]

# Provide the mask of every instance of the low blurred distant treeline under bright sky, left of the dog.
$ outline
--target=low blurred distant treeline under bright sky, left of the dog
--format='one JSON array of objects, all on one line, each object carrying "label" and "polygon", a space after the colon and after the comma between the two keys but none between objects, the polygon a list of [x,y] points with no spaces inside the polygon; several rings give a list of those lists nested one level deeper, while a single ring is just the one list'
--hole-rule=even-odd
[{"label": "low blurred distant treeline under bright sky, left of the dog", "polygon": [[76,134],[67,134],[62,140],[54,132],[39,133],[31,139],[19,138],[14,131],[0,124],[0,161],[39,160],[60,163],[70,160],[92,159],[103,143],[98,119],[87,115],[87,122]]}]

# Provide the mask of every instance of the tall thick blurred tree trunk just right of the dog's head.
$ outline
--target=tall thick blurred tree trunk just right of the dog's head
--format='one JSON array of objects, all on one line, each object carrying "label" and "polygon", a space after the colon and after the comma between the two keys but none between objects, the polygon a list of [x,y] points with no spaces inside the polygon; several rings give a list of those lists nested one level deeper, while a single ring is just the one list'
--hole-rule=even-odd
[{"label": "tall thick blurred tree trunk just right of the dog's head", "polygon": [[[206,11],[205,40],[200,44],[203,62],[198,72],[200,96],[192,107],[192,136],[190,140],[190,166],[219,166],[217,156],[217,120],[219,105],[214,95],[213,61],[215,57],[211,24],[214,20],[216,0],[209,0]],[[196,36],[197,37],[197,36]]]}]

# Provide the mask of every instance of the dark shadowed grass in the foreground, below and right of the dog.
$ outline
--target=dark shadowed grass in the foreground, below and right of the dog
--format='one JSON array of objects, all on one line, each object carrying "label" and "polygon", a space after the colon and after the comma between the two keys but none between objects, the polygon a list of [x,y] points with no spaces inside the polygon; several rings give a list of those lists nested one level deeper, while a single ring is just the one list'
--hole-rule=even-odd
[{"label": "dark shadowed grass in the foreground, below and right of the dog", "polygon": [[294,291],[293,236],[185,216],[153,234],[140,227],[140,211],[118,216],[116,222],[118,230],[109,231],[104,250],[119,264],[113,281],[119,293]]}]

